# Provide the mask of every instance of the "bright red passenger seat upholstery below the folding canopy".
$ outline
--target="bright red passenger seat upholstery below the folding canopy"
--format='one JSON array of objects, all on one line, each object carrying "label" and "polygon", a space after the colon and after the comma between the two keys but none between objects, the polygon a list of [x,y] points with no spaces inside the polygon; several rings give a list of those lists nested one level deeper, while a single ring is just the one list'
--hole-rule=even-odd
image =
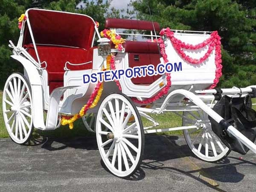
[{"label": "bright red passenger seat upholstery below the folding canopy", "polygon": [[[27,52],[38,61],[33,45],[24,46]],[[50,93],[57,87],[63,86],[64,66],[67,61],[73,64],[86,63],[93,60],[93,49],[88,51],[81,48],[57,47],[57,46],[37,46],[40,61],[47,62],[48,84]],[[67,65],[70,70],[92,69],[93,64],[84,64],[78,66]]]}]

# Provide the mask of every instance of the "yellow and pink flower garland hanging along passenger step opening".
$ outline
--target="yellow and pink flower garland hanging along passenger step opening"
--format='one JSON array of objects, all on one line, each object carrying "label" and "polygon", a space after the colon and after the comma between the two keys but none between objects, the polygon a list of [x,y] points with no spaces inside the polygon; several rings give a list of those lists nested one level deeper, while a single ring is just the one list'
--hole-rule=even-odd
[{"label": "yellow and pink flower garland hanging along passenger step opening", "polygon": [[[113,55],[108,55],[107,57],[107,67],[106,68],[102,68],[102,70],[110,70],[110,65],[111,65],[111,61],[112,60],[112,56]],[[86,111],[90,108],[94,108],[96,107],[96,105],[99,102],[99,99],[102,95],[102,91],[103,91],[103,82],[98,82],[96,84],[95,89],[93,90],[93,93],[91,94],[87,104],[85,104],[81,110],[79,111],[79,113],[76,113],[73,116],[62,116],[61,118],[61,125],[69,125],[70,129],[73,129],[74,125],[73,122],[75,122],[77,119],[81,118],[82,116],[85,115]]]}]

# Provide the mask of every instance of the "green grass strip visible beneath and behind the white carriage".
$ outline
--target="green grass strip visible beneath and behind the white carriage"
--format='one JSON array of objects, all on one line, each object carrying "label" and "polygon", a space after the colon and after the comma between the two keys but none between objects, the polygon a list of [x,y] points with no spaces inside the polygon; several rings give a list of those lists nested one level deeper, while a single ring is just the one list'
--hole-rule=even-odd
[{"label": "green grass strip visible beneath and behind the white carriage", "polygon": [[[0,91],[0,138],[7,138],[9,137],[8,132],[6,131],[5,123],[3,120],[3,111],[2,111],[2,96],[3,92]],[[157,128],[171,128],[181,126],[182,119],[175,115],[174,113],[163,113],[160,115],[151,115],[160,125]],[[152,125],[147,119],[142,118],[144,126]],[[68,125],[61,126],[60,128],[54,131],[41,131],[38,129],[34,129],[33,134],[35,136],[47,136],[47,137],[82,137],[82,136],[93,136],[94,133],[91,133],[86,130],[84,124],[81,119],[78,119],[74,122],[74,128],[70,130]],[[182,131],[169,131],[165,133],[157,133],[157,134],[182,134]]]}]

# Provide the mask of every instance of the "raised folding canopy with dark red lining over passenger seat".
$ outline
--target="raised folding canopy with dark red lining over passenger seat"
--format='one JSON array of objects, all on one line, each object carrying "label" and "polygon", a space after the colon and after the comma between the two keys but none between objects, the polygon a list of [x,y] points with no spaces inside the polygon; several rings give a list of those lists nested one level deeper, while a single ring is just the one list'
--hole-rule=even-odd
[{"label": "raised folding canopy with dark red lining over passenger seat", "polygon": [[[43,9],[27,11],[36,44],[52,44],[89,49],[95,35],[95,22],[87,15]],[[26,22],[23,45],[32,44]]]}]

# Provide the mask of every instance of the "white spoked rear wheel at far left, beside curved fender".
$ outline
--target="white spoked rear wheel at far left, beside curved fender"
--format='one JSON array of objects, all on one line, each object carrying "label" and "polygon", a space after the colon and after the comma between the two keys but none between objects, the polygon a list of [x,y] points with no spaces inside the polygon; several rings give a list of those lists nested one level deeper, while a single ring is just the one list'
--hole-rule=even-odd
[{"label": "white spoked rear wheel at far left, beside curved fender", "polygon": [[21,73],[12,73],[3,89],[3,119],[11,139],[26,143],[33,132],[32,94]]}]

